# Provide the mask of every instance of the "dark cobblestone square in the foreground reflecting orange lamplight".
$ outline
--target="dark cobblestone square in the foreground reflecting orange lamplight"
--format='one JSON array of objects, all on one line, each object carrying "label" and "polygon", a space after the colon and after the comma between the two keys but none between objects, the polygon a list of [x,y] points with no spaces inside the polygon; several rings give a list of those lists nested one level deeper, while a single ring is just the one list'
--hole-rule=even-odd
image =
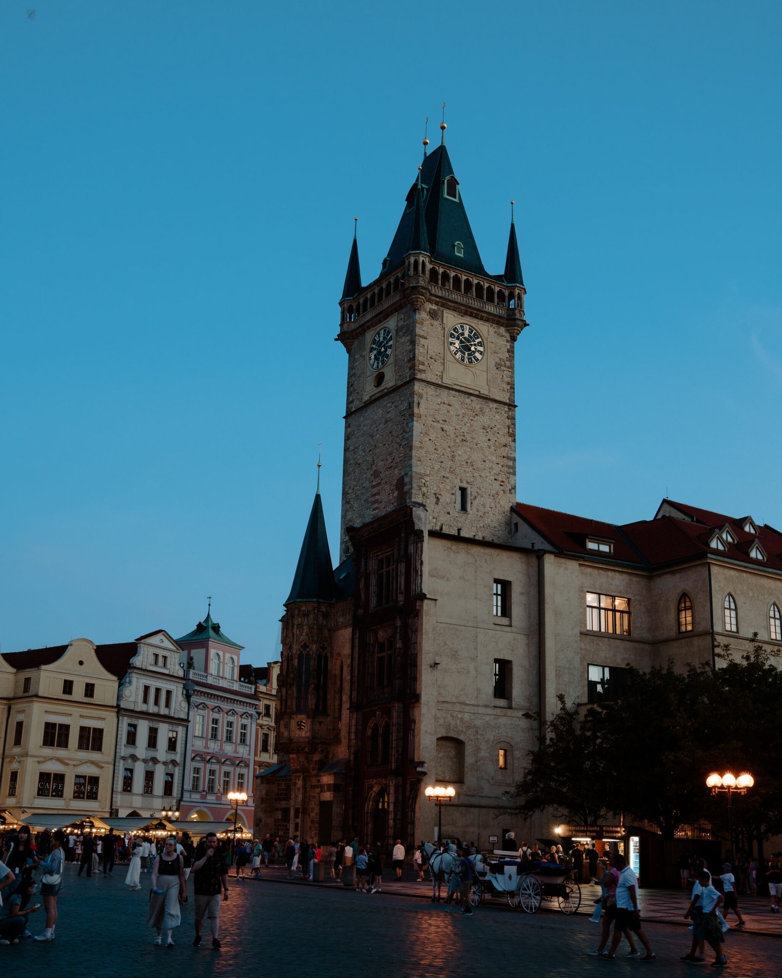
[{"label": "dark cobblestone square in the foreground reflecting orange lamplight", "polygon": [[[650,923],[647,933],[658,960],[644,964],[618,958],[615,963],[586,955],[598,928],[581,916],[537,913],[499,907],[479,909],[471,918],[447,912],[409,896],[360,894],[337,885],[285,884],[269,877],[236,882],[223,905],[221,951],[208,940],[194,948],[193,901],[183,908],[174,948],[152,945],[146,927],[149,876],[143,889],[124,886],[124,867],[113,878],[75,878],[67,869],[60,896],[57,939],[48,944],[24,941],[0,947],[0,974],[56,978],[296,978],[393,976],[430,978],[456,975],[529,973],[583,978],[606,970],[630,974],[655,969],[661,976],[691,974],[678,960],[688,950],[686,927]],[[421,884],[421,887],[423,884]],[[30,918],[30,930],[43,926],[42,911]],[[731,932],[724,946],[728,973],[741,978],[782,974],[782,942],[772,936]],[[621,952],[622,953],[622,952]],[[710,973],[711,968],[706,968]]]}]

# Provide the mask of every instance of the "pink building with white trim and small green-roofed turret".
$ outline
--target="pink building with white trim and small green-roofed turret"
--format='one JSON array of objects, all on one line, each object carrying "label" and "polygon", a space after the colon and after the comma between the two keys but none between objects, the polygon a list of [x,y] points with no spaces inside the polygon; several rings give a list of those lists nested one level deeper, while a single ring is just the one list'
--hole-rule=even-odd
[{"label": "pink building with white trim and small green-roofed turret", "polygon": [[255,684],[239,679],[243,646],[223,634],[210,612],[211,605],[203,621],[178,640],[189,659],[186,678],[193,684],[180,819],[228,821],[229,791],[244,791],[239,824],[251,831],[259,701]]}]

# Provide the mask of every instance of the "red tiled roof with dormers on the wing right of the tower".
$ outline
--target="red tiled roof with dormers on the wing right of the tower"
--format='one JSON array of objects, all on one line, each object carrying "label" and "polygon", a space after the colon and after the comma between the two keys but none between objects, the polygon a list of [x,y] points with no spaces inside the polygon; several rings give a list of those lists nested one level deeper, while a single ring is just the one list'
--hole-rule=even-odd
[{"label": "red tiled roof with dormers on the wing right of the tower", "polygon": [[[692,518],[680,519],[666,515],[614,525],[524,503],[517,503],[516,511],[557,550],[567,554],[610,559],[608,555],[586,550],[588,536],[612,540],[614,559],[646,566],[695,559],[708,554],[713,557],[724,556],[754,567],[782,570],[782,533],[772,526],[759,526],[758,534],[755,535],[746,533],[742,528],[747,516],[727,516],[679,503],[671,505]],[[692,522],[692,519],[698,521]],[[709,541],[715,530],[721,531],[726,524],[730,526],[736,543],[726,542],[724,551],[716,551],[709,546]],[[756,541],[765,552],[765,560],[756,560],[749,554]]]}]

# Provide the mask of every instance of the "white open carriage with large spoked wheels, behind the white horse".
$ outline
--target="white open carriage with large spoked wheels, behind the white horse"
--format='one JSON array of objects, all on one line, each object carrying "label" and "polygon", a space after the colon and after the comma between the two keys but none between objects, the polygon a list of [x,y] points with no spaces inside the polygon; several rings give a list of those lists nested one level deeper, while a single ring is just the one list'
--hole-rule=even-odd
[{"label": "white open carriage with large spoked wheels, behind the white horse", "polygon": [[581,887],[573,879],[572,866],[521,862],[516,854],[495,853],[496,861],[475,857],[470,903],[503,897],[511,907],[535,913],[543,900],[556,900],[563,913],[575,913],[581,906]]}]

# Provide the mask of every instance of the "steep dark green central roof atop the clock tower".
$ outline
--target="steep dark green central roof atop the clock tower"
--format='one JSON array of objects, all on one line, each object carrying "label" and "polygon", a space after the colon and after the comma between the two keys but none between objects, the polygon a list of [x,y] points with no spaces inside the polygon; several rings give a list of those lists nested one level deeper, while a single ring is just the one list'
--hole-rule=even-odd
[{"label": "steep dark green central roof atop the clock tower", "polygon": [[[445,196],[445,182],[448,177],[454,175],[454,167],[451,165],[451,158],[448,156],[445,145],[438,146],[434,153],[424,158],[420,182],[428,247],[421,247],[419,250],[427,250],[436,261],[441,261],[454,268],[463,269],[473,275],[486,275],[481,256],[478,253],[478,245],[475,244],[470,222],[467,219],[467,212],[464,209],[461,189],[459,188],[457,192],[458,200],[452,200]],[[418,220],[416,216],[418,214],[416,209],[416,203],[419,202],[418,197],[418,182],[416,181],[408,194],[405,211],[402,214],[391,247],[388,249],[388,255],[383,262],[384,271],[390,271],[397,265],[401,265],[405,260],[405,255],[413,250],[411,243],[417,233],[414,225]],[[462,245],[463,255],[456,254],[456,242]]]}]

